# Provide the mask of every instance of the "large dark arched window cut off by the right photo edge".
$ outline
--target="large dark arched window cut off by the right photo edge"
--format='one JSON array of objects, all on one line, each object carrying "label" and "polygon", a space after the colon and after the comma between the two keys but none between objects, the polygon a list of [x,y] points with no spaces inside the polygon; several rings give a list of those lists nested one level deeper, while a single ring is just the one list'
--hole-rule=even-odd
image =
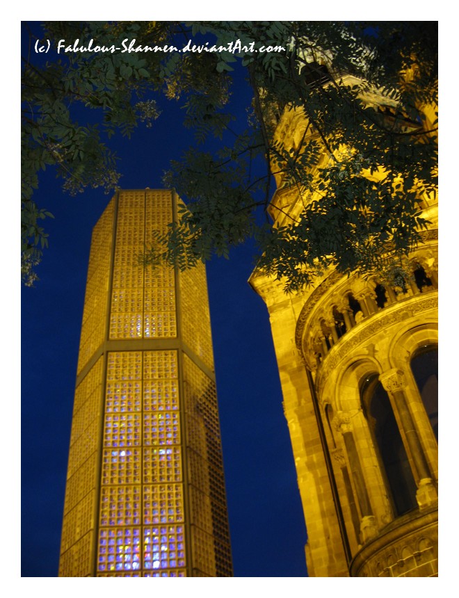
[{"label": "large dark arched window cut off by the right photo edge", "polygon": [[438,442],[438,348],[430,345],[417,351],[411,371]]}]

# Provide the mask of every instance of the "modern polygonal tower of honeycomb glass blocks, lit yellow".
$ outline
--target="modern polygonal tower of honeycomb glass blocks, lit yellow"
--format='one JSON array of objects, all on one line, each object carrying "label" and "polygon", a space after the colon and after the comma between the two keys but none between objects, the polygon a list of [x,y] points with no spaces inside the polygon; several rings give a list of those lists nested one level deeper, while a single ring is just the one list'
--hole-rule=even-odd
[{"label": "modern polygonal tower of honeycomb glass blocks, lit yellow", "polygon": [[205,269],[137,260],[178,202],[119,191],[92,233],[60,576],[232,576]]}]

